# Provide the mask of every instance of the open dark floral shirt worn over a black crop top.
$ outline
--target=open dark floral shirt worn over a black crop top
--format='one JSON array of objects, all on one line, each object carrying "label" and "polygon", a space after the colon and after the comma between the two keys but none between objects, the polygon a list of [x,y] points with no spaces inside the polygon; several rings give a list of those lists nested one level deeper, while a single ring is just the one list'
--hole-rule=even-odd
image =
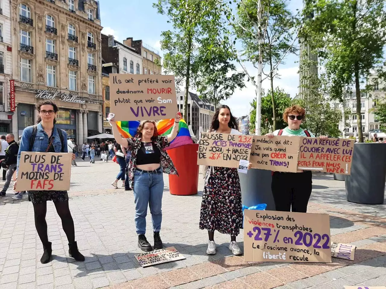
[{"label": "open dark floral shirt worn over a black crop top", "polygon": [[[132,188],[134,185],[134,171],[137,167],[137,153],[141,148],[141,138],[128,138],[127,143],[127,150],[131,151],[131,158],[129,161],[129,186]],[[168,147],[170,144],[168,143],[168,137],[157,136],[153,143],[155,143],[161,151],[161,158],[159,158],[159,163],[161,164],[163,172],[169,175],[178,175],[176,167],[173,165],[170,156],[166,151],[164,151],[164,148]]]}]

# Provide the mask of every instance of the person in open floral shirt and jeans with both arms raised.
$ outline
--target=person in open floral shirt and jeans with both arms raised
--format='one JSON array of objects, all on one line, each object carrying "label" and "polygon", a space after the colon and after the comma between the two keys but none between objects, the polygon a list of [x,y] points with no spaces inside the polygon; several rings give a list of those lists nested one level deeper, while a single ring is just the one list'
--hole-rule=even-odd
[{"label": "person in open floral shirt and jeans with both arms raised", "polygon": [[162,195],[164,191],[163,173],[178,175],[168,153],[164,150],[178,134],[181,114],[177,113],[168,136],[159,136],[155,121],[142,121],[134,138],[122,138],[114,118],[110,119],[113,135],[117,143],[131,151],[129,162],[129,186],[133,188],[135,202],[135,228],[138,247],[145,252],[152,251],[146,239],[147,206],[153,223],[154,250],[162,249],[159,231],[162,222]]}]

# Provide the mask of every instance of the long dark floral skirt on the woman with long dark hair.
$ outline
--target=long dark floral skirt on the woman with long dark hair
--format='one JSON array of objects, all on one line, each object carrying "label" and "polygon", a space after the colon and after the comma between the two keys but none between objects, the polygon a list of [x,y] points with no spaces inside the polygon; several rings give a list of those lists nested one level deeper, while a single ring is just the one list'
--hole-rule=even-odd
[{"label": "long dark floral skirt on the woman with long dark hair", "polygon": [[[214,172],[213,172],[214,169]],[[201,202],[200,229],[237,236],[242,227],[240,179],[237,169],[209,167]]]}]

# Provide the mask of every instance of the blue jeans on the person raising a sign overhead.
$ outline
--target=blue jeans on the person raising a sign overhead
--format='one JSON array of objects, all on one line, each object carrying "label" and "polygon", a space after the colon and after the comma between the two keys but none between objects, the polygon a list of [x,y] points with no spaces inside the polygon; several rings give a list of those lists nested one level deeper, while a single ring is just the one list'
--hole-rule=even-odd
[{"label": "blue jeans on the person raising a sign overhead", "polygon": [[135,228],[137,234],[146,233],[147,205],[149,204],[153,231],[161,230],[162,222],[162,195],[164,192],[164,178],[162,169],[157,173],[134,172],[134,202],[135,202]]}]

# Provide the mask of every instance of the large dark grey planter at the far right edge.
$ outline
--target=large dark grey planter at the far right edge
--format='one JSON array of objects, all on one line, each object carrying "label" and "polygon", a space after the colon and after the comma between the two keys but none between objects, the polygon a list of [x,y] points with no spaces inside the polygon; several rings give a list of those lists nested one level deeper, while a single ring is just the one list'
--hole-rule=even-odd
[{"label": "large dark grey planter at the far right edge", "polygon": [[386,181],[386,144],[356,143],[351,175],[345,176],[347,201],[383,204]]}]

